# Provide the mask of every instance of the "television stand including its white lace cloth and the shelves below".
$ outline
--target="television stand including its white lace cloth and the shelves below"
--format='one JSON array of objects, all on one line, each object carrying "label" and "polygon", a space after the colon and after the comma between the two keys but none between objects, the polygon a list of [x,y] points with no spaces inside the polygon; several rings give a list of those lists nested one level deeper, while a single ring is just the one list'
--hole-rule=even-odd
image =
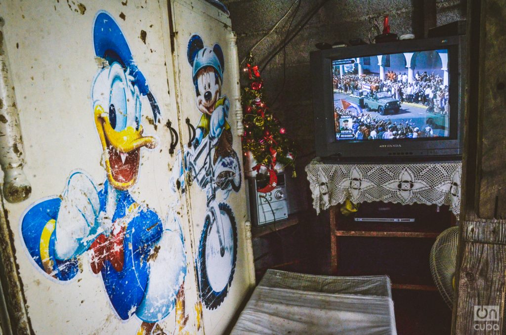
[{"label": "television stand including its white lace cloth and the shelves below", "polygon": [[[329,208],[332,274],[389,274],[392,288],[435,289],[429,253],[436,237],[455,224],[452,213],[459,213],[459,161],[327,164],[313,160],[306,172],[317,214]],[[358,204],[358,212],[342,215],[340,208],[346,201]],[[360,216],[414,222],[354,221]],[[350,240],[364,247],[348,245]],[[348,248],[353,253],[348,255]],[[340,259],[340,254],[347,257]],[[422,263],[412,267],[412,259]],[[350,260],[356,264],[346,264]],[[385,266],[379,267],[382,262]],[[399,269],[401,275],[396,275]]]}]

